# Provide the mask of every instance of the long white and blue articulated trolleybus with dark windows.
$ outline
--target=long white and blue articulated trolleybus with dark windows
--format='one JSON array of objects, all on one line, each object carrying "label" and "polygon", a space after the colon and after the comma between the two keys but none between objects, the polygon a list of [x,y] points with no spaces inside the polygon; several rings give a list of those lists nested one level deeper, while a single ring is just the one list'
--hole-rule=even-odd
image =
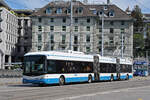
[{"label": "long white and blue articulated trolleybus with dark windows", "polygon": [[132,59],[75,51],[31,52],[24,56],[23,83],[60,84],[130,79]]}]

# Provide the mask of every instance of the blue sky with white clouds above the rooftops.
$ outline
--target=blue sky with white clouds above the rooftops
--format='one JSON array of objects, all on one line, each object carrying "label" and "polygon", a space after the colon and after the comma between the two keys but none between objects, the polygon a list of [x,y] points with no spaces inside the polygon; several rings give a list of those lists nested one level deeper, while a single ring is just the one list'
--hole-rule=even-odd
[{"label": "blue sky with white clouds above the rooftops", "polygon": [[[35,9],[41,8],[53,0],[5,0],[12,9]],[[83,0],[80,0],[83,1]],[[132,10],[135,5],[139,5],[142,13],[150,13],[150,0],[110,0],[112,4],[125,10],[127,7]],[[88,3],[103,4],[107,0],[88,0]]]}]

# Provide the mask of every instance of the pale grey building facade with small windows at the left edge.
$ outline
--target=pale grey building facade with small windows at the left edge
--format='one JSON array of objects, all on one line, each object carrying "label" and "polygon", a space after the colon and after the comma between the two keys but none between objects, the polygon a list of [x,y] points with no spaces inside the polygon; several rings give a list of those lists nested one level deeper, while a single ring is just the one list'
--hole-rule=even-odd
[{"label": "pale grey building facade with small windows at the left edge", "polygon": [[0,69],[14,62],[18,40],[18,17],[7,7],[0,8]]}]

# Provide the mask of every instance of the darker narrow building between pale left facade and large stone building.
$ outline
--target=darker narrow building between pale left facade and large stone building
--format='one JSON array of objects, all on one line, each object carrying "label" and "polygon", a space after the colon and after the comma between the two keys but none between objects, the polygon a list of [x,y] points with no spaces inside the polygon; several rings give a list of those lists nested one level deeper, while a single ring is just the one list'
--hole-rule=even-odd
[{"label": "darker narrow building between pale left facade and large stone building", "polygon": [[29,17],[32,10],[14,10],[18,16],[18,41],[16,49],[16,62],[22,62],[25,53],[31,50],[32,45],[32,22]]}]

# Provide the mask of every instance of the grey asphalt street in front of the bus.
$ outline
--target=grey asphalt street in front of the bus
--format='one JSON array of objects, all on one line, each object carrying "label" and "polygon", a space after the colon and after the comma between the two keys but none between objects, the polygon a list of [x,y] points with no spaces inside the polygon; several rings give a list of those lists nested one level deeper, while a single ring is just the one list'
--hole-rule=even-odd
[{"label": "grey asphalt street in front of the bus", "polygon": [[68,84],[0,86],[0,100],[149,100],[150,79]]}]

